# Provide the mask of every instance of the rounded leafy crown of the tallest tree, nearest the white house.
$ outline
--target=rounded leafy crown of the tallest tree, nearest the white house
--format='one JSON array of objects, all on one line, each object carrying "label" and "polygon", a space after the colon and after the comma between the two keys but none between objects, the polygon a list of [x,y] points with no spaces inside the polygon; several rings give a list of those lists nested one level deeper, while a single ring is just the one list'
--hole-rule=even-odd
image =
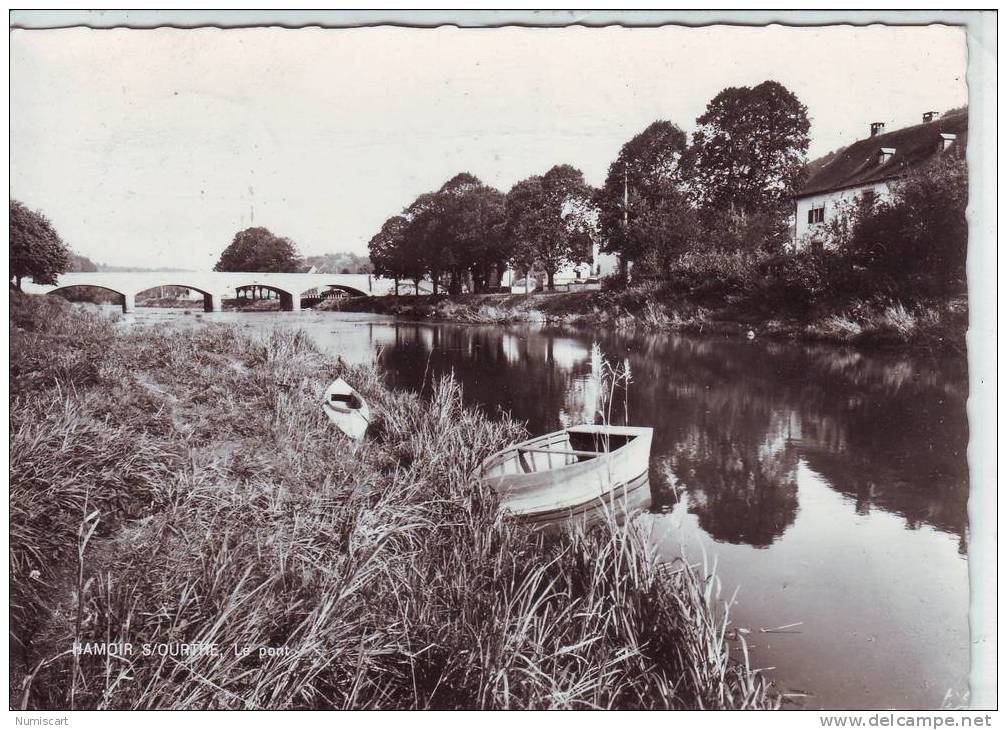
[{"label": "rounded leafy crown of the tallest tree, nearest the white house", "polygon": [[807,107],[782,85],[763,82],[725,89],[696,123],[686,164],[704,217],[782,212],[807,163]]}]

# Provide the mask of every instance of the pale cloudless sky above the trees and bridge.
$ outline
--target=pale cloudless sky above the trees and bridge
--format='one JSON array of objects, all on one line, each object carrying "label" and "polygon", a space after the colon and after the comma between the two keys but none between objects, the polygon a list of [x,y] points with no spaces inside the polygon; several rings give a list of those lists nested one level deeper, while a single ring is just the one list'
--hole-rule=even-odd
[{"label": "pale cloudless sky above the trees and bridge", "polygon": [[652,122],[781,83],[810,157],[967,103],[952,26],[13,30],[11,197],[96,262],[209,269],[241,229],[367,253],[467,171],[600,184]]}]

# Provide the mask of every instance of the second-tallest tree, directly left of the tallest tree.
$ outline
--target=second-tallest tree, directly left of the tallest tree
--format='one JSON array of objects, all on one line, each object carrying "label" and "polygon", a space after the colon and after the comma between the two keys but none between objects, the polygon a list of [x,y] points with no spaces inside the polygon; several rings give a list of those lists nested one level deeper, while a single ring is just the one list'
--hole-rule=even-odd
[{"label": "second-tallest tree, directly left of the tallest tree", "polygon": [[686,149],[685,132],[662,120],[622,145],[609,165],[596,197],[601,248],[618,254],[623,272],[644,258],[664,266],[692,243],[695,214],[682,168]]}]

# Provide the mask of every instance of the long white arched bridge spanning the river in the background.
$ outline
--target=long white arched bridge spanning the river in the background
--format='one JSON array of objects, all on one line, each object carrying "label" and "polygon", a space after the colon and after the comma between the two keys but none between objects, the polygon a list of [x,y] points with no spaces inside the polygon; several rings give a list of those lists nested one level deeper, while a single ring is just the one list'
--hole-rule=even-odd
[{"label": "long white arched bridge spanning the river in the background", "polygon": [[203,308],[219,312],[225,297],[238,295],[239,289],[260,287],[276,292],[287,311],[299,311],[301,297],[311,291],[342,291],[355,296],[387,296],[395,291],[395,282],[371,274],[271,274],[257,272],[75,272],[60,274],[55,284],[21,282],[28,294],[50,294],[75,286],[92,286],[122,297],[124,312],[132,312],[136,295],[162,286],[178,286],[202,294]]}]

